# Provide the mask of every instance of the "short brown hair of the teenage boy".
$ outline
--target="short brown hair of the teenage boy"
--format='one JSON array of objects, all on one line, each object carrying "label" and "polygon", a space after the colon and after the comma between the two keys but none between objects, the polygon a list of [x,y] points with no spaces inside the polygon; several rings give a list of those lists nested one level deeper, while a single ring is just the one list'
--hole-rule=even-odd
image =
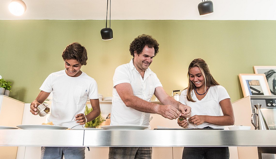
[{"label": "short brown hair of the teenage boy", "polygon": [[66,46],[62,53],[63,61],[65,59],[75,59],[81,65],[87,64],[87,51],[84,46],[81,46],[80,43],[74,42]]}]

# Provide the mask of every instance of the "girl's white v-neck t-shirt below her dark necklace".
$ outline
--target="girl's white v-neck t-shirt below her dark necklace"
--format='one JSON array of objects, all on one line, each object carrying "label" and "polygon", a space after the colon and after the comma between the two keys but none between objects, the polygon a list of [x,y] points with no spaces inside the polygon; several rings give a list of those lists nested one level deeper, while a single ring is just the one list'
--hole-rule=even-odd
[{"label": "girl's white v-neck t-shirt below her dark necklace", "polygon": [[[179,98],[179,102],[192,108],[190,117],[194,115],[222,116],[223,114],[221,113],[219,102],[227,98],[230,99],[226,89],[221,85],[211,86],[205,97],[201,100],[197,99],[194,91],[191,92],[191,96],[195,102],[187,100],[187,89],[185,89],[181,92]],[[209,123],[188,125],[190,128],[204,128],[208,126],[211,128],[223,128],[223,126]]]}]

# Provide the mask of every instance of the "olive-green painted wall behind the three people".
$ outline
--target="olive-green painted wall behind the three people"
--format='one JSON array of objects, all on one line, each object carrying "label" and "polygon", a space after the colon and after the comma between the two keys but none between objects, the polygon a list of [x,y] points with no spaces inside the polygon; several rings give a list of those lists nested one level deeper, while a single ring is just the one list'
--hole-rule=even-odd
[{"label": "olive-green painted wall behind the three people", "polygon": [[204,59],[232,102],[243,97],[239,73],[254,65],[276,65],[276,21],[112,20],[114,38],[101,39],[104,20],[1,20],[0,75],[12,81],[10,97],[32,102],[44,79],[64,69],[64,48],[79,42],[88,51],[83,72],[93,77],[104,97],[112,96],[112,77],[128,63],[128,49],[140,34],[152,35],[160,51],[150,68],[165,91],[187,87],[187,68]]}]

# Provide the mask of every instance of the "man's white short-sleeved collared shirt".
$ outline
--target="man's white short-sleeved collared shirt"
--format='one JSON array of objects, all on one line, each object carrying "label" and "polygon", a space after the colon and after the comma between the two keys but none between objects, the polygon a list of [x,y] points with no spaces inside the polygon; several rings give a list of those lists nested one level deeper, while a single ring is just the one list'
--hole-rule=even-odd
[{"label": "man's white short-sleeved collared shirt", "polygon": [[121,100],[115,89],[115,86],[121,83],[130,83],[135,96],[150,102],[155,88],[162,87],[156,74],[147,68],[143,79],[131,59],[128,64],[117,67],[113,76],[110,125],[142,125],[150,128],[150,113],[129,108]]}]

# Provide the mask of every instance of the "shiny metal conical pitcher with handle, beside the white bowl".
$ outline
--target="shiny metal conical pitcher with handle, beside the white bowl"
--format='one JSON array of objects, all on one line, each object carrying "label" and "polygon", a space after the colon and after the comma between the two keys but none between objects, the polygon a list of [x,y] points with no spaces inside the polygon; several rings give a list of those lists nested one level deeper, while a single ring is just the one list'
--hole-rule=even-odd
[{"label": "shiny metal conical pitcher with handle, beside the white bowl", "polygon": [[[254,105],[254,107],[256,108],[256,113],[253,113],[251,115],[251,123],[255,127],[255,130],[270,130],[266,123],[266,119],[264,119],[264,115],[262,114],[262,111],[261,111],[262,105],[258,103]],[[256,116],[255,121],[253,118],[254,115]]]}]

